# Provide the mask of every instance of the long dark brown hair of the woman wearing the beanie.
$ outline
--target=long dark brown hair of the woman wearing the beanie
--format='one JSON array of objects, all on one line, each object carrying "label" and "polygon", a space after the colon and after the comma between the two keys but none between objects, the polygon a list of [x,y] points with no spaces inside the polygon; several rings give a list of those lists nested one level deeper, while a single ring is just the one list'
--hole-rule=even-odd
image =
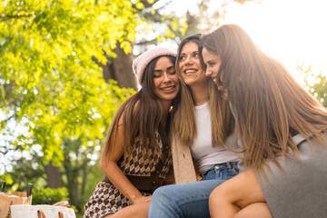
[{"label": "long dark brown hair of the woman wearing the beanie", "polygon": [[[172,64],[175,57],[164,55]],[[162,56],[154,58],[144,70],[142,88],[136,94],[128,98],[118,109],[104,143],[102,158],[113,151],[114,141],[119,126],[119,120],[123,116],[124,129],[124,161],[130,160],[136,140],[142,147],[143,160],[148,160],[149,155],[160,152],[156,141],[156,132],[163,114],[158,97],[154,94],[154,66]],[[151,152],[150,152],[151,151]]]}]

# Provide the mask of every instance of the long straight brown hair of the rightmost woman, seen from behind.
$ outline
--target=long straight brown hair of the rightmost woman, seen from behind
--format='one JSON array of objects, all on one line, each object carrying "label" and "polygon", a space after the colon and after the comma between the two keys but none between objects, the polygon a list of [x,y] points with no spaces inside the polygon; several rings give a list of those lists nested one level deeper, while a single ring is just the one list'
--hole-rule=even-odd
[{"label": "long straight brown hair of the rightmost woman, seen from behind", "polygon": [[[217,79],[233,105],[245,166],[263,172],[266,158],[298,154],[292,134],[326,144],[327,112],[276,60],[263,54],[238,25],[203,35],[202,45],[221,58]],[[265,174],[263,172],[263,174]]]}]

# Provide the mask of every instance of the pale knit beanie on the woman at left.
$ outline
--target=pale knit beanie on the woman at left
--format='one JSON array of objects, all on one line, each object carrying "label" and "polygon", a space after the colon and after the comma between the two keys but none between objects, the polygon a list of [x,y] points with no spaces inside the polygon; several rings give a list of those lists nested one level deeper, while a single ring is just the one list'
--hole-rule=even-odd
[{"label": "pale knit beanie on the woman at left", "polygon": [[142,84],[142,79],[144,76],[144,70],[148,64],[154,58],[164,55],[171,55],[176,57],[176,50],[170,47],[156,46],[144,52],[144,54],[139,55],[133,62],[133,72],[137,76],[137,80],[140,84]]}]

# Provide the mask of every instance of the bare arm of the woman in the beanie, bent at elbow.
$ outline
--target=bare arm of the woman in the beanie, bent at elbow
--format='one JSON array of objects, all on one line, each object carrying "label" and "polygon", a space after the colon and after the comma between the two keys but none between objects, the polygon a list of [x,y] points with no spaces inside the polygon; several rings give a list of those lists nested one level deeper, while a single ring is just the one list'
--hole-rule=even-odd
[{"label": "bare arm of the woman in the beanie, bent at elbow", "polygon": [[124,175],[122,170],[118,167],[117,163],[124,154],[124,128],[123,128],[123,115],[121,116],[116,132],[116,137],[112,144],[111,150],[107,158],[101,158],[100,168],[108,177],[111,183],[124,194],[132,203],[143,203],[151,197],[145,197],[140,191],[131,183]]}]

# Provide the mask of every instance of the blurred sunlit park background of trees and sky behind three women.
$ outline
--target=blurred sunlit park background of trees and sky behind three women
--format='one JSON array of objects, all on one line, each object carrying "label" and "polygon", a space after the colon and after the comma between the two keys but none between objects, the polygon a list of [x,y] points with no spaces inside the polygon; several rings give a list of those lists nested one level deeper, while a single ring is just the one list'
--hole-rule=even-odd
[{"label": "blurred sunlit park background of trees and sky behind three women", "polygon": [[154,45],[241,25],[327,106],[327,3],[319,0],[4,0],[0,5],[0,180],[33,203],[83,206],[103,178],[115,110]]}]

